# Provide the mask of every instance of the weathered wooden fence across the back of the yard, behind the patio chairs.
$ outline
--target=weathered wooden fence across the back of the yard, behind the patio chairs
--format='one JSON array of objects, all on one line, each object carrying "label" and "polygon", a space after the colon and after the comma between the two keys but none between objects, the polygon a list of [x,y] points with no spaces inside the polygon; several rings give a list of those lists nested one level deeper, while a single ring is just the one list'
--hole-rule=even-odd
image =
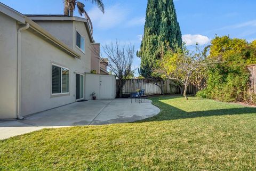
[{"label": "weathered wooden fence across the back of the yard, behind the patio chairs", "polygon": [[[173,85],[172,80],[165,80],[164,82],[158,82],[158,85],[163,87],[165,94],[179,94],[180,89],[178,86]],[[118,86],[116,86],[118,88]],[[162,94],[161,88],[151,82],[149,79],[127,79],[123,86],[123,94],[130,94],[131,92],[136,92],[137,89],[145,89],[146,94]],[[189,85],[187,93],[196,94],[198,89]],[[118,92],[118,90],[116,91]]]}]

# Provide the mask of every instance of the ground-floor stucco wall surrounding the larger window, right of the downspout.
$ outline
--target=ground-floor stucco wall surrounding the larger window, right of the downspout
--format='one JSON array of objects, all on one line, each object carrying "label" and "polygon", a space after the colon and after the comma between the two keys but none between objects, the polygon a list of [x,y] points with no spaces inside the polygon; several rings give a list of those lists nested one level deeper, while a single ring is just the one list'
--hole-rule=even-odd
[{"label": "ground-floor stucco wall surrounding the larger window, right of the downspout", "polygon": [[[31,31],[22,32],[21,115],[44,111],[76,101],[76,72],[88,72],[82,60],[73,58]],[[51,67],[70,70],[70,94],[51,97]]]}]

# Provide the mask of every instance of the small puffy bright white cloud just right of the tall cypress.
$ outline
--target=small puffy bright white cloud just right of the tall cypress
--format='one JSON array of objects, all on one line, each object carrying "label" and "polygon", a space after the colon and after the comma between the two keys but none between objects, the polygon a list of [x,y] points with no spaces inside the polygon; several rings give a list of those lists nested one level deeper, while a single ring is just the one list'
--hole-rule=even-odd
[{"label": "small puffy bright white cloud just right of the tall cypress", "polygon": [[205,45],[210,42],[210,38],[203,35],[182,35],[183,42],[186,43],[186,45],[195,45],[198,43],[199,45]]}]

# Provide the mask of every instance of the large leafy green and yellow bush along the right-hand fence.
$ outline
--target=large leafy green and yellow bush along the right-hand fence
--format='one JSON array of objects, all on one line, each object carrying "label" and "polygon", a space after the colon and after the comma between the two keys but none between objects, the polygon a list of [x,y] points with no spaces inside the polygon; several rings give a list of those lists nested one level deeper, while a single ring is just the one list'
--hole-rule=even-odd
[{"label": "large leafy green and yellow bush along the right-hand fence", "polygon": [[196,96],[224,102],[253,101],[252,96],[247,93],[250,72],[246,66],[256,61],[255,47],[253,43],[249,44],[243,39],[215,37],[208,58],[221,57],[221,62],[207,70],[207,86]]}]

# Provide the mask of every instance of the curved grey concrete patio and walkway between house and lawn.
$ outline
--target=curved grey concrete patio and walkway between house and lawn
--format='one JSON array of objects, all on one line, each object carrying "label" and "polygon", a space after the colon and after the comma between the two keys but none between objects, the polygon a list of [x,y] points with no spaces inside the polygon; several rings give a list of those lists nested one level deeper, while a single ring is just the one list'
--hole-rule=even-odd
[{"label": "curved grey concrete patio and walkway between house and lawn", "polygon": [[23,120],[0,121],[0,140],[43,128],[77,125],[127,123],[157,115],[160,109],[150,100],[131,103],[130,99],[76,102],[26,117]]}]

